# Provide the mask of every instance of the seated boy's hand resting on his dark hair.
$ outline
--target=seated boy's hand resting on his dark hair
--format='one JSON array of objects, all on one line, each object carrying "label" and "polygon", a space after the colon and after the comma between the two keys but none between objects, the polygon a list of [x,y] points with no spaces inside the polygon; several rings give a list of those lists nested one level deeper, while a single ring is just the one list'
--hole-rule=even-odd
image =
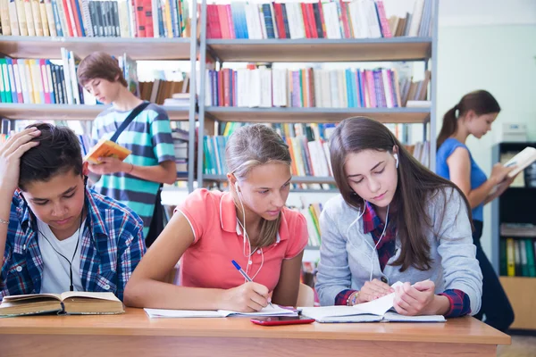
[{"label": "seated boy's hand resting on his dark hair", "polygon": [[39,135],[37,128],[24,129],[0,146],[0,189],[7,195],[13,195],[19,185],[22,154],[39,145],[38,141],[30,141]]}]

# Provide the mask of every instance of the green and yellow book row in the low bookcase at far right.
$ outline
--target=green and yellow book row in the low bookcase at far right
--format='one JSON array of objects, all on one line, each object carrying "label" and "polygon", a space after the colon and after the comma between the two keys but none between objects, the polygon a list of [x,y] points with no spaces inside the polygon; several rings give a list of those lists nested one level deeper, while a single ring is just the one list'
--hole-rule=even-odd
[{"label": "green and yellow book row in the low bookcase at far right", "polygon": [[536,239],[507,237],[499,240],[499,273],[507,277],[536,277]]}]

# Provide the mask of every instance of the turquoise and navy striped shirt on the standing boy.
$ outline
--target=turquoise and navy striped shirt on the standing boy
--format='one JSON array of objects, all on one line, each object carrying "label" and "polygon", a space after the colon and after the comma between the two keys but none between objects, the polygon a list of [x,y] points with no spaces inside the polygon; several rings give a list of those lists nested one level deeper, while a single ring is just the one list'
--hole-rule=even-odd
[{"label": "turquoise and navy striped shirt on the standing boy", "polygon": [[[101,138],[109,139],[131,111],[121,112],[110,107],[101,112],[93,123],[93,145]],[[125,162],[138,166],[155,166],[168,160],[175,161],[172,129],[167,113],[158,105],[149,104],[121,133],[117,144],[129,149]],[[103,175],[96,183],[96,192],[124,203],[138,213],[144,224],[144,237],[153,219],[156,194],[160,183],[138,179],[125,172]]]}]

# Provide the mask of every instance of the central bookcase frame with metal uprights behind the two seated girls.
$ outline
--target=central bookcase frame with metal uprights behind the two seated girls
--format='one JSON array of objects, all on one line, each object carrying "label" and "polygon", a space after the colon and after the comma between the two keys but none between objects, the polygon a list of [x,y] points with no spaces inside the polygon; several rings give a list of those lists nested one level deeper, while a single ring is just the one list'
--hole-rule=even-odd
[{"label": "central bookcase frame with metal uprights behind the two seated girls", "polygon": [[[198,132],[208,129],[205,119],[217,123],[269,122],[269,123],[337,123],[348,117],[365,115],[383,123],[424,124],[423,140],[430,141],[431,170],[435,170],[436,151],[436,91],[437,42],[439,2],[431,1],[431,37],[387,38],[268,38],[268,39],[216,39],[207,37],[207,1],[203,0],[200,12],[200,79]],[[246,108],[236,106],[205,105],[206,58],[218,62],[424,62],[425,71],[431,66],[430,108],[297,108],[269,107]],[[213,131],[213,129],[210,129]],[[200,135],[201,137],[201,135]],[[197,185],[205,180],[219,181],[225,177],[203,173],[203,140],[197,142]],[[298,179],[298,178],[296,178]],[[332,178],[328,178],[331,179]],[[293,179],[294,182],[297,182]],[[326,178],[307,178],[306,183],[325,183]]]}]

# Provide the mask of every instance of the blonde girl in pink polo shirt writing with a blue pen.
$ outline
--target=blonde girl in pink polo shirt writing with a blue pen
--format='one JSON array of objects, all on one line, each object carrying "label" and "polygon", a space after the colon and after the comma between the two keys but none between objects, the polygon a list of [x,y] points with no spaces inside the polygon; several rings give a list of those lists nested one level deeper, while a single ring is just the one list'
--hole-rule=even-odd
[{"label": "blonde girl in pink polo shirt writing with a blue pen", "polygon": [[[285,207],[289,147],[257,124],[231,135],[225,157],[229,192],[188,195],[132,274],[126,304],[232,311],[259,311],[270,299],[296,305],[308,236],[303,215]],[[163,282],[181,258],[181,286]]]}]

